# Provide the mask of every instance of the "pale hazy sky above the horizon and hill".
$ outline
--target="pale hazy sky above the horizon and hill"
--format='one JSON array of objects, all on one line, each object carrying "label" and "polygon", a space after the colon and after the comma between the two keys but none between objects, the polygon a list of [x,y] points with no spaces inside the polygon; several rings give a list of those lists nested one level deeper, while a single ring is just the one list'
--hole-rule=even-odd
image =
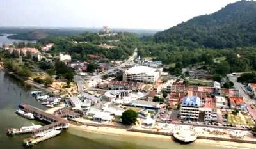
[{"label": "pale hazy sky above the horizon and hill", "polygon": [[238,0],[0,0],[0,26],[168,29]]}]

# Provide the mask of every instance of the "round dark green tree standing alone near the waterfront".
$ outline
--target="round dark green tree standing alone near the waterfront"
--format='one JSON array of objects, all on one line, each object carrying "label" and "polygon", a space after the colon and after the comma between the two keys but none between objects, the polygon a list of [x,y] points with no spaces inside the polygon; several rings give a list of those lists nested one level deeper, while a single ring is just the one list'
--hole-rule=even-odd
[{"label": "round dark green tree standing alone near the waterfront", "polygon": [[138,118],[138,113],[136,113],[136,111],[134,110],[126,110],[124,111],[124,113],[122,113],[122,123],[124,125],[132,125],[137,121]]}]

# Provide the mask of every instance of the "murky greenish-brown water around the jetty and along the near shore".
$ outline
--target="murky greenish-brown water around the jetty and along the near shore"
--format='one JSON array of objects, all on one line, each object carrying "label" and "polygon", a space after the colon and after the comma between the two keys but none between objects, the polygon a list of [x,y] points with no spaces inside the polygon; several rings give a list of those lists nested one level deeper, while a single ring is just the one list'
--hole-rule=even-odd
[{"label": "murky greenish-brown water around the jetty and along the near shore", "polygon": [[[31,104],[45,109],[35,98],[31,98],[31,86],[13,78],[0,70],[0,148],[20,149],[22,139],[29,134],[6,136],[9,127],[22,127],[31,123],[40,124],[33,120],[27,120],[15,114],[18,104]],[[42,124],[42,123],[41,123]],[[159,139],[148,139],[131,136],[110,136],[91,132],[81,132],[76,129],[63,131],[60,136],[53,137],[47,141],[33,146],[34,149],[223,149],[223,147],[211,146],[199,143],[180,145],[174,141],[161,141]]]}]

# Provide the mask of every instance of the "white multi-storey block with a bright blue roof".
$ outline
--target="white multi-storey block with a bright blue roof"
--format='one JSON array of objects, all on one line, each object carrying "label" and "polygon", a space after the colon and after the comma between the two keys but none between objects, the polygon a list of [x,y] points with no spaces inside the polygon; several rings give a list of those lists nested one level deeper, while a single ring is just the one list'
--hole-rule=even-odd
[{"label": "white multi-storey block with a bright blue roof", "polygon": [[180,110],[181,120],[199,120],[200,113],[200,98],[196,96],[186,96],[183,98],[182,107]]}]

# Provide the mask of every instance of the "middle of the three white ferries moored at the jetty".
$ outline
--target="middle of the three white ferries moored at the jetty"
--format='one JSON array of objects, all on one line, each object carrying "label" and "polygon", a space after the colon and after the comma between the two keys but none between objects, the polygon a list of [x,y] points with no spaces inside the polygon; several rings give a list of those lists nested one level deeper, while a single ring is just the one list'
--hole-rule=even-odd
[{"label": "middle of the three white ferries moored at the jetty", "polygon": [[41,125],[35,125],[32,123],[31,126],[25,126],[21,128],[10,128],[8,129],[7,135],[25,134],[25,133],[32,132],[35,129],[39,129],[41,127],[42,127]]}]

